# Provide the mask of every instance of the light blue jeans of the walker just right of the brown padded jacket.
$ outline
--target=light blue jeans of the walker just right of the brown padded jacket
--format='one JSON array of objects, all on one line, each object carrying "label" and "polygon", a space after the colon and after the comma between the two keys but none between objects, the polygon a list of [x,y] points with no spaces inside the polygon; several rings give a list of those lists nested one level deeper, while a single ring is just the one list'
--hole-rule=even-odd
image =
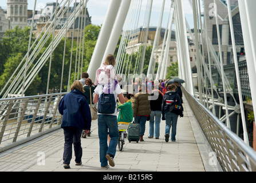
[{"label": "light blue jeans of the walker just right of the brown padded jacket", "polygon": [[[161,121],[161,114],[160,110],[151,111],[150,120],[149,120],[149,136],[153,137],[154,133],[154,122],[155,122],[155,137],[160,136],[160,121]],[[155,120],[154,120],[155,118]]]}]

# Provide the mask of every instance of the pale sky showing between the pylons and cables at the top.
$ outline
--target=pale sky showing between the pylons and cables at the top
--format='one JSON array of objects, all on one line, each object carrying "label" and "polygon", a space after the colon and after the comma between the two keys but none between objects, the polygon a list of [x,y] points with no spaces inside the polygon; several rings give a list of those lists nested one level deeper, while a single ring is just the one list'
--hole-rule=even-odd
[{"label": "pale sky showing between the pylons and cables at the top", "polygon": [[[58,0],[59,3],[61,1],[62,0]],[[77,0],[77,2],[79,1],[80,0]],[[41,8],[44,8],[47,2],[56,2],[56,0],[37,0],[36,10],[40,10]],[[107,13],[108,5],[110,2],[111,0],[89,0],[88,1],[87,7],[88,7],[89,15],[92,17],[91,19],[92,24],[101,25],[104,22],[104,17],[105,17],[105,14]],[[147,2],[147,1],[143,1],[143,2]],[[28,3],[27,5],[28,9],[33,10],[35,0],[27,0],[27,3]],[[162,3],[163,3],[163,0],[153,0],[152,15],[151,15],[151,21],[149,26],[158,25]],[[145,7],[145,4],[146,3],[144,3],[144,7]],[[162,27],[167,26],[170,5],[171,5],[171,0],[166,0],[165,6],[164,6],[165,8],[164,8]],[[6,9],[7,0],[0,0],[0,6],[2,7],[2,9]],[[184,0],[184,12],[185,12],[187,21],[190,23],[190,27],[192,29],[192,27],[194,27],[193,15],[192,15],[192,9],[190,7],[190,3],[188,2],[188,0]],[[141,25],[143,25],[142,19],[141,19]]]}]

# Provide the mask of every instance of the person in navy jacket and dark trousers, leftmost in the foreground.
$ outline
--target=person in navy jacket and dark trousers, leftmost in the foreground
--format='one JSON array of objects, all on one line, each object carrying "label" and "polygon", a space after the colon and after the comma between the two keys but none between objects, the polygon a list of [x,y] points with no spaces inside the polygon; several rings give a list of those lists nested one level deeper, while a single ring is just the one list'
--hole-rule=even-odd
[{"label": "person in navy jacket and dark trousers, leftmost in the foreground", "polygon": [[62,117],[61,128],[64,129],[64,168],[70,168],[70,160],[72,159],[72,144],[74,145],[74,156],[76,165],[81,165],[82,147],[81,134],[82,130],[90,130],[92,118],[90,116],[90,108],[86,97],[84,96],[82,83],[78,80],[74,81],[70,87],[70,92],[61,98],[58,110]]}]

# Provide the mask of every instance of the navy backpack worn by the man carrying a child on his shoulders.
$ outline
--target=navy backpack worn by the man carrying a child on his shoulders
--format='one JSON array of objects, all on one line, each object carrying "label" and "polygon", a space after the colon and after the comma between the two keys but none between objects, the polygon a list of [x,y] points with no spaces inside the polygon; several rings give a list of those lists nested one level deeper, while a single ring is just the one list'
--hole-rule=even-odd
[{"label": "navy backpack worn by the man carrying a child on his shoulders", "polygon": [[98,113],[113,114],[116,110],[116,100],[113,93],[102,93],[98,103]]}]

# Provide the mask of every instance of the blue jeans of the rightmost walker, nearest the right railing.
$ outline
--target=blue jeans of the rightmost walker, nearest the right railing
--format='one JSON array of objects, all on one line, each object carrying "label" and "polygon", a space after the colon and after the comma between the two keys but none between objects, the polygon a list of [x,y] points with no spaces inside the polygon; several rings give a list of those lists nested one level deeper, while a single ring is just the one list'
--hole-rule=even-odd
[{"label": "blue jeans of the rightmost walker, nearest the right railing", "polygon": [[178,121],[178,114],[174,114],[171,112],[168,112],[164,114],[164,117],[166,118],[166,134],[170,134],[170,129],[172,127],[172,133],[171,133],[171,140],[175,141],[176,138],[176,126],[177,126],[177,121]]}]

